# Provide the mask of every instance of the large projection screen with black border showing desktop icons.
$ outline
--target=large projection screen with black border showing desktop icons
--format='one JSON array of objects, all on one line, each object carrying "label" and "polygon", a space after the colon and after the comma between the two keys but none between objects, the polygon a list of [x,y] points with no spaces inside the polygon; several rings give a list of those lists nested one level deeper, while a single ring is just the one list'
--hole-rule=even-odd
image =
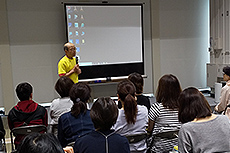
[{"label": "large projection screen with black border showing desktop icons", "polygon": [[144,74],[142,4],[64,3],[64,9],[79,79]]}]

